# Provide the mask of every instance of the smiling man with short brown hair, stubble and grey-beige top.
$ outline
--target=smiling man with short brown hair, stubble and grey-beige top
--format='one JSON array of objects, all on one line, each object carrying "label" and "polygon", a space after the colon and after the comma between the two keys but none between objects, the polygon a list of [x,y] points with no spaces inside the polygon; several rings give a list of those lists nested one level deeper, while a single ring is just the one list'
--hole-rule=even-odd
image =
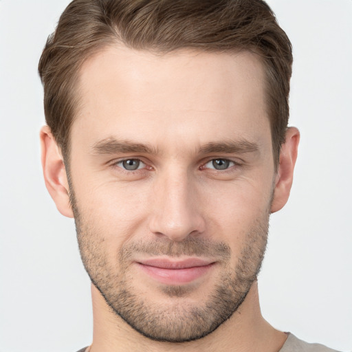
[{"label": "smiling man with short brown hair, stubble and grey-beige top", "polygon": [[259,307],[299,141],[264,1],[74,0],[39,72],[45,183],[92,282],[82,351],[332,351]]}]

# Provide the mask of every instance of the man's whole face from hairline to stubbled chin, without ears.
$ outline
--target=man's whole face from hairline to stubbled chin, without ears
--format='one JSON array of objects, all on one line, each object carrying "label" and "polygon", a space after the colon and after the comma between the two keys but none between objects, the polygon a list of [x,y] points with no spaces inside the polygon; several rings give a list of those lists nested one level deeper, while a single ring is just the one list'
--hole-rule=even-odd
[{"label": "man's whole face from hairline to stubbled chin, without ears", "polygon": [[113,47],[85,63],[79,92],[70,192],[91,281],[144,336],[206,336],[265,251],[275,175],[261,63]]}]

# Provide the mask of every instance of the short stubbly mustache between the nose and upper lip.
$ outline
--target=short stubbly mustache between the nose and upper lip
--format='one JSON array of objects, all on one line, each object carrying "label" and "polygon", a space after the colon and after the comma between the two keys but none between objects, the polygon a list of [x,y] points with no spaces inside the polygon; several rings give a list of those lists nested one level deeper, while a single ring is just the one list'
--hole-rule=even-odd
[{"label": "short stubbly mustache between the nose and upper lip", "polygon": [[197,237],[189,237],[184,241],[175,242],[167,238],[153,241],[138,241],[126,243],[120,250],[120,259],[129,259],[133,254],[148,254],[153,256],[206,256],[230,259],[230,246],[224,242],[211,241]]}]

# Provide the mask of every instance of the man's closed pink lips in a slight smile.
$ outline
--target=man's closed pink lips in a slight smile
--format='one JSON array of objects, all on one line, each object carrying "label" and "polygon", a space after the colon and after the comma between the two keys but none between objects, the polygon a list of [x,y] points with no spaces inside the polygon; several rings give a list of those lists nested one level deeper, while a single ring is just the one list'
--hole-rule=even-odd
[{"label": "man's closed pink lips in a slight smile", "polygon": [[146,259],[136,261],[140,270],[153,280],[166,285],[185,285],[205,276],[215,265],[214,261],[187,258],[182,260]]}]

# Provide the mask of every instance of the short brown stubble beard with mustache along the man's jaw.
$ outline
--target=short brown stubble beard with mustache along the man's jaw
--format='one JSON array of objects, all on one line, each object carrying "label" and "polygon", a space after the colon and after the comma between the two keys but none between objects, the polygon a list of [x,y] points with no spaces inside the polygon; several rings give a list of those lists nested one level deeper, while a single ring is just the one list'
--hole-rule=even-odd
[{"label": "short brown stubble beard with mustache along the man's jaw", "polygon": [[[129,243],[118,253],[118,264],[107,261],[107,252],[98,230],[78,211],[71,192],[80,255],[91,282],[112,311],[143,336],[157,341],[188,342],[203,338],[228,320],[245,300],[259,274],[267,244],[269,211],[257,219],[245,236],[245,245],[230,267],[231,252],[227,243],[199,237],[183,242],[166,238],[153,243]],[[160,291],[173,300],[169,305],[144,298],[133,287],[129,258],[135,253],[153,255],[216,256],[223,265],[217,285],[197,305],[186,303],[189,287],[162,285]]]}]

